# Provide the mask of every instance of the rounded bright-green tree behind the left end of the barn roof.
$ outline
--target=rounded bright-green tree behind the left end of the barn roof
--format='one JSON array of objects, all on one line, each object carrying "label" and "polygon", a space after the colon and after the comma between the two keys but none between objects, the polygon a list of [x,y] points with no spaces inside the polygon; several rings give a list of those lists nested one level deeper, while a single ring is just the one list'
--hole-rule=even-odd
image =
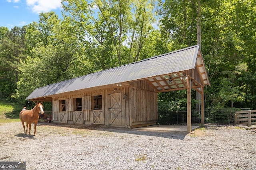
[{"label": "rounded bright-green tree behind the left end of the barn roof", "polygon": [[[24,100],[35,88],[89,73],[88,59],[72,25],[54,12],[40,14],[39,23],[28,26],[31,54],[18,83],[16,98]],[[34,41],[30,41],[30,39]],[[44,43],[42,43],[44,42]],[[29,79],[29,81],[28,81]],[[24,91],[24,89],[27,89]],[[30,90],[29,90],[30,89]]]}]

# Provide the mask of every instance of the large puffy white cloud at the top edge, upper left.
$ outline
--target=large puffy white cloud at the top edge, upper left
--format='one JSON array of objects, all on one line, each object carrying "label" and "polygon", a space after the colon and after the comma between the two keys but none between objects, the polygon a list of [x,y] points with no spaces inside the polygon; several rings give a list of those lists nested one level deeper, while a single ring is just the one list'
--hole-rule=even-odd
[{"label": "large puffy white cloud at the top edge, upper left", "polygon": [[37,14],[61,8],[61,0],[26,0],[26,4]]}]

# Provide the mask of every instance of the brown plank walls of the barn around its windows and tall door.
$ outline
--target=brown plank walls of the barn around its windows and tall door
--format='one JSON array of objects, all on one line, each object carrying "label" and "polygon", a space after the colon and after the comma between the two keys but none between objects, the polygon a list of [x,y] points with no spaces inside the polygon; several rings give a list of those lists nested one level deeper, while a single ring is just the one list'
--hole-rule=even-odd
[{"label": "brown plank walls of the barn around its windows and tall door", "polygon": [[[154,88],[146,80],[138,80],[129,84],[52,98],[53,121],[63,123],[94,123],[95,115],[92,112],[92,98],[96,95],[102,95],[102,115],[100,115],[102,120],[97,121],[97,123],[103,122],[103,124],[107,124],[109,121],[107,95],[120,92],[122,126],[140,127],[156,124],[157,93],[154,91]],[[74,111],[74,98],[82,98],[81,114],[78,111]],[[65,112],[60,112],[61,100],[66,100]]]}]

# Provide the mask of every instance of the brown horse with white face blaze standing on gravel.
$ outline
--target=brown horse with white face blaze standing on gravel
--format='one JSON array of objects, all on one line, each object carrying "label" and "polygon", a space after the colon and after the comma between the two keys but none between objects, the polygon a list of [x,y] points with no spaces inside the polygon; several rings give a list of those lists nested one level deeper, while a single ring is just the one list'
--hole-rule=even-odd
[{"label": "brown horse with white face blaze standing on gravel", "polygon": [[[44,110],[43,110],[43,105],[42,103],[37,103],[36,106],[31,109],[31,110],[22,110],[20,111],[20,121],[23,125],[24,128],[24,134],[28,133],[28,125],[29,125],[29,135],[30,135],[30,130],[31,130],[31,123],[35,124],[35,131],[34,131],[34,135],[36,136],[36,125],[38,123],[38,119],[39,119],[39,115],[38,113],[43,114]],[[26,122],[27,124],[27,131],[25,131],[25,125],[24,122]]]}]

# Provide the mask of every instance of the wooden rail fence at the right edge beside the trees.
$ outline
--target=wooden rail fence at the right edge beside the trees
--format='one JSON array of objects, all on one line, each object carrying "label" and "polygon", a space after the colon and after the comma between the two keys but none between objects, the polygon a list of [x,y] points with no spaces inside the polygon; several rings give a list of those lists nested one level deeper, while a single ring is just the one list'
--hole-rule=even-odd
[{"label": "wooden rail fence at the right edge beside the trees", "polygon": [[240,125],[256,125],[256,110],[237,111],[235,123]]}]

